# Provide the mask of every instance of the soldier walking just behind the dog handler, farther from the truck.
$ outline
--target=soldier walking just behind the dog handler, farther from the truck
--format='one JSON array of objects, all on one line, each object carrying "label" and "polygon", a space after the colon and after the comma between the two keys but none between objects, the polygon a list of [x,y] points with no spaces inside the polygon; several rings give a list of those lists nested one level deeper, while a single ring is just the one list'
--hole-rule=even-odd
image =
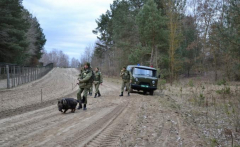
[{"label": "soldier walking just behind the dog handler, farther from the truck", "polygon": [[94,96],[94,98],[96,98],[97,97],[97,95],[98,95],[98,97],[100,97],[101,96],[101,94],[100,94],[100,91],[99,91],[99,85],[100,84],[102,84],[102,82],[103,82],[103,80],[102,80],[102,74],[101,74],[101,72],[99,71],[99,68],[97,67],[97,68],[95,68],[95,73],[94,73],[94,81],[93,81],[93,84],[94,84],[94,86],[95,86],[95,96]]}]

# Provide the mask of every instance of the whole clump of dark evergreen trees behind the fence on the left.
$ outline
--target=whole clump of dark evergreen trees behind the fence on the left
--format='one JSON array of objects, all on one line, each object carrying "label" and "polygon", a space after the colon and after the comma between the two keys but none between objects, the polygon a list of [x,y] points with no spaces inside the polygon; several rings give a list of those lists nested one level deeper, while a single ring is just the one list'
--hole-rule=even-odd
[{"label": "whole clump of dark evergreen trees behind the fence on the left", "polygon": [[0,1],[0,62],[38,65],[46,38],[22,0]]}]

